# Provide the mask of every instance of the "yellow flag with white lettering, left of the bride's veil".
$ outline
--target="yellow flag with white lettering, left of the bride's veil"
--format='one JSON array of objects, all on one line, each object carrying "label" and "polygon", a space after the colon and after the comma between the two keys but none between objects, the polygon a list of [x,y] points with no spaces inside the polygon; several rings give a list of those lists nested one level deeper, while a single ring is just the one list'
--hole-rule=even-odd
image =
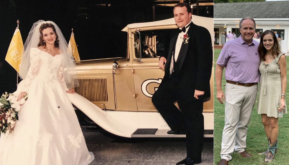
[{"label": "yellow flag with white lettering, left of the bride's veil", "polygon": [[23,51],[23,42],[20,30],[16,27],[10,42],[5,60],[19,73],[21,56]]}]

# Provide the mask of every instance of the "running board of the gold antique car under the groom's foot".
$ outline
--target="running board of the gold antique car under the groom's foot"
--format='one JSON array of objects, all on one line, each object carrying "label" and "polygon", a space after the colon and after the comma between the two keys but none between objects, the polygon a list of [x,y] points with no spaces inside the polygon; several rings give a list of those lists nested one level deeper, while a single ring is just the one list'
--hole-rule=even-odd
[{"label": "running board of the gold antique car under the groom's foot", "polygon": [[[172,135],[167,134],[169,130],[159,130],[157,128],[140,128],[137,129],[133,134],[132,138],[185,138],[186,135]],[[213,138],[214,130],[204,130],[205,138]]]}]

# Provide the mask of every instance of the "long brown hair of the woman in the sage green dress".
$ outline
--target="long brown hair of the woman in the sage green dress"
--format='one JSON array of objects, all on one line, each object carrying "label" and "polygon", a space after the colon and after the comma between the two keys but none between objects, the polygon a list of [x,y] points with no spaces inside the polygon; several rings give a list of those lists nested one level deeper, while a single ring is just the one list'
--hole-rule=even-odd
[{"label": "long brown hair of the woman in the sage green dress", "polygon": [[259,55],[260,55],[260,59],[263,60],[263,61],[266,61],[265,59],[265,55],[267,53],[267,49],[264,47],[263,45],[263,38],[265,35],[267,34],[271,34],[272,37],[273,37],[273,40],[274,40],[274,44],[273,44],[273,47],[272,47],[272,56],[273,58],[276,58],[277,55],[279,55],[280,53],[280,49],[279,49],[279,43],[277,41],[277,37],[275,36],[275,33],[274,31],[272,30],[265,30],[262,35],[261,35],[261,38],[260,38],[260,44],[258,46],[258,52],[259,52]]}]

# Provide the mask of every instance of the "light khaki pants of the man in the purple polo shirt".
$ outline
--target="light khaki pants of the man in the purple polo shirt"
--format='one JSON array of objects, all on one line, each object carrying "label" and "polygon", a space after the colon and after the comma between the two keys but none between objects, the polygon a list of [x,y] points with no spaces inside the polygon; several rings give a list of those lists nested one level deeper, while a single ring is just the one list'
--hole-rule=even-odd
[{"label": "light khaki pants of the man in the purple polo shirt", "polygon": [[248,123],[256,102],[257,91],[257,84],[245,87],[226,83],[222,159],[231,160],[234,148],[238,153],[245,151]]}]

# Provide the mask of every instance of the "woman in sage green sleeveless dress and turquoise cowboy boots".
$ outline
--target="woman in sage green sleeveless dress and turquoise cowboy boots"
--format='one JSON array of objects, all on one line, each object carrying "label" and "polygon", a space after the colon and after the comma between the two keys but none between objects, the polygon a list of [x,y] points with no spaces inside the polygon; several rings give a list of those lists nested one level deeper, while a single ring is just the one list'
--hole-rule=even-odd
[{"label": "woman in sage green sleeveless dress and turquoise cowboy boots", "polygon": [[[266,155],[265,162],[273,160],[277,151],[278,119],[287,113],[285,102],[286,91],[286,58],[280,52],[274,31],[262,33],[258,47],[261,73],[257,112],[261,114],[262,123],[268,138],[268,149],[260,155]],[[278,104],[278,105],[277,105]]]}]

